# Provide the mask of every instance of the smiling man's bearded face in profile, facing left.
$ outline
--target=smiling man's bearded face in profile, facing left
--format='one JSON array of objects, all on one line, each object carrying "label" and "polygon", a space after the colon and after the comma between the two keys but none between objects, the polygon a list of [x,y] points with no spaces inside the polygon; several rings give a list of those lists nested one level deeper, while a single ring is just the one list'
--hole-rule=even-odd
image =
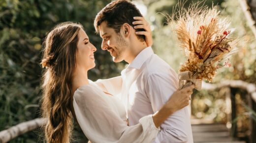
[{"label": "smiling man's bearded face in profile, facing left", "polygon": [[121,62],[127,56],[128,43],[120,33],[107,26],[106,22],[99,25],[99,34],[102,38],[101,48],[110,52],[114,62]]}]

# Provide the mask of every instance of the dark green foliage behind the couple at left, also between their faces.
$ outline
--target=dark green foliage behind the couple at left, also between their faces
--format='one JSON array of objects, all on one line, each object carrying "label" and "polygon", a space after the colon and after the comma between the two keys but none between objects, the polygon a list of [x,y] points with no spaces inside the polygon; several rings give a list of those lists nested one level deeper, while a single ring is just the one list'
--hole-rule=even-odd
[{"label": "dark green foliage behind the couple at left, also between their faces", "polygon": [[[93,26],[97,12],[110,1],[0,0],[0,131],[40,116],[41,44],[58,23],[81,23],[98,48],[91,79],[119,74],[111,56],[99,50],[101,39]],[[25,134],[11,143],[36,142],[36,134],[41,133]],[[86,141],[82,131],[76,130],[74,139],[79,142],[81,138]]]}]

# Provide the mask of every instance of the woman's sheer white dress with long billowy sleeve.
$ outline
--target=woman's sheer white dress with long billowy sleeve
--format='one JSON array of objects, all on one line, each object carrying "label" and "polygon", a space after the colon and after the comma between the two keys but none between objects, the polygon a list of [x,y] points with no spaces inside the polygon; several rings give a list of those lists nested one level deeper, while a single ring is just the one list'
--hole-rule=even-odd
[{"label": "woman's sheer white dress with long billowy sleeve", "polygon": [[75,91],[73,106],[80,127],[92,143],[152,143],[160,131],[152,115],[128,126],[121,100],[105,94],[91,81]]}]

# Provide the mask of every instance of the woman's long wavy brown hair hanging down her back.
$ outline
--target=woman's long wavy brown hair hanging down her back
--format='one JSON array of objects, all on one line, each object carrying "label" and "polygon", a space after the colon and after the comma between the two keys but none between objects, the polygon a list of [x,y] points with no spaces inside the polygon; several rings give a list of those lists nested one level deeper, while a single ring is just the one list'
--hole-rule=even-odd
[{"label": "woman's long wavy brown hair hanging down her back", "polygon": [[78,32],[81,24],[58,24],[43,43],[42,116],[47,119],[44,128],[47,143],[69,143],[72,130],[71,81],[75,69]]}]

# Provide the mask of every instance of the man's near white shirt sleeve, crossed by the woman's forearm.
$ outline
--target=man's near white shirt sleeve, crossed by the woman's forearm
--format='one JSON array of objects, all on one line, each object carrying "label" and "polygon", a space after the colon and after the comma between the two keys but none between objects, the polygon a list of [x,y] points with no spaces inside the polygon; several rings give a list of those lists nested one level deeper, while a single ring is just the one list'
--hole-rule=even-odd
[{"label": "man's near white shirt sleeve, crossed by the woman's forearm", "polygon": [[[146,82],[146,94],[151,102],[154,112],[160,110],[170,96],[178,89],[178,78],[176,73],[156,73],[149,75]],[[156,138],[155,143],[187,143],[188,134],[187,125],[189,114],[183,108],[173,113],[160,126],[160,133]]]}]

